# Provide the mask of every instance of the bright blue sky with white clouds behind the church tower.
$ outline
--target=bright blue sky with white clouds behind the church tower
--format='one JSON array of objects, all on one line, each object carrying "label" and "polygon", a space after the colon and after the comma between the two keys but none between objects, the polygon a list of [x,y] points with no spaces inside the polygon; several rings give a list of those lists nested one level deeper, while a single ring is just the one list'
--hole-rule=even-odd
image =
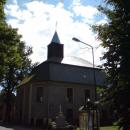
[{"label": "bright blue sky with white clouds behind the church tower", "polygon": [[65,57],[79,57],[92,63],[92,50],[73,37],[94,47],[95,64],[100,65],[103,48],[91,29],[93,24],[106,23],[97,10],[103,0],[8,0],[5,6],[7,22],[23,36],[27,46],[33,48],[33,63],[47,59],[47,45],[54,32],[64,44]]}]

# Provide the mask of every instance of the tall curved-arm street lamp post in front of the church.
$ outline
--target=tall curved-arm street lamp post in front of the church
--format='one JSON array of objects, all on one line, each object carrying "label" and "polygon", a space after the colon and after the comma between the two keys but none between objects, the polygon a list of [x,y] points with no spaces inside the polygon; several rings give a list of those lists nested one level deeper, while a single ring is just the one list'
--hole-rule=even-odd
[{"label": "tall curved-arm street lamp post in front of the church", "polygon": [[[97,91],[96,91],[96,77],[95,77],[95,67],[94,67],[94,49],[93,46],[79,40],[78,38],[73,37],[72,40],[76,41],[76,42],[81,42],[85,45],[87,45],[88,47],[90,47],[92,49],[92,59],[93,59],[93,83],[94,83],[94,88],[95,88],[95,101],[97,101]],[[94,117],[93,117],[94,118]],[[93,130],[99,130],[99,122],[98,122],[98,112],[96,110],[96,128],[94,126],[94,119],[93,119]]]}]

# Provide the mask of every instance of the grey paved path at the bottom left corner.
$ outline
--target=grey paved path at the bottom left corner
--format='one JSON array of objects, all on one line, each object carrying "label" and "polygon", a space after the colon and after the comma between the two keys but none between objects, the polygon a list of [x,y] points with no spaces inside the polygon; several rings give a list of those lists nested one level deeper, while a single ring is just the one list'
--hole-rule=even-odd
[{"label": "grey paved path at the bottom left corner", "polygon": [[25,128],[21,126],[0,126],[0,130],[42,130],[42,129]]}]

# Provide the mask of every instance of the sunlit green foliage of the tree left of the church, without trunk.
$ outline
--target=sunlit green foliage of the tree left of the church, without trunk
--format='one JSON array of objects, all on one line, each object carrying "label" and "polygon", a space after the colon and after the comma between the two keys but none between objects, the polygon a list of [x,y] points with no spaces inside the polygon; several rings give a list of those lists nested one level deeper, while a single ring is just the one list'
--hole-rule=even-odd
[{"label": "sunlit green foliage of the tree left of the church, without trunk", "polygon": [[5,88],[10,86],[11,91],[29,72],[31,61],[28,56],[32,49],[20,41],[17,29],[8,25],[0,26],[0,82]]}]

